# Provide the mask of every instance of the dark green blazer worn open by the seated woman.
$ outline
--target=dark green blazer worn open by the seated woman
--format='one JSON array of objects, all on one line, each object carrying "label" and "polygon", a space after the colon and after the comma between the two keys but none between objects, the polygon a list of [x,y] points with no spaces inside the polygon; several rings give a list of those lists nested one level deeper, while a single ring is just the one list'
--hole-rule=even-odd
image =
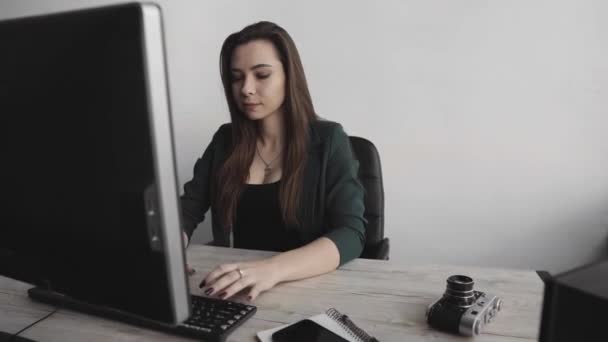
[{"label": "dark green blazer worn open by the seated woman", "polygon": [[[211,182],[228,157],[232,141],[231,124],[222,125],[203,156],[194,166],[192,180],[181,196],[183,229],[190,237],[211,208],[213,245],[230,246],[230,232],[215,213]],[[304,171],[303,193],[295,229],[302,245],[325,236],[340,252],[340,265],[357,258],[365,245],[363,217],[364,189],[357,178],[359,162],[353,157],[350,140],[342,126],[331,121],[315,121],[309,134],[309,155]]]}]

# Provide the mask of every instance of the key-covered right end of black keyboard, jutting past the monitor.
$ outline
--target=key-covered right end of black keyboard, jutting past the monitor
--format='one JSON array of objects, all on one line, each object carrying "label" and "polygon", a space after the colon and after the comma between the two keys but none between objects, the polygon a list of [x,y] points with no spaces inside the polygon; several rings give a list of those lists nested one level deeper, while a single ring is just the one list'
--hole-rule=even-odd
[{"label": "key-covered right end of black keyboard, jutting past the monitor", "polygon": [[204,341],[224,341],[239,325],[256,312],[256,307],[227,300],[190,296],[191,316],[177,326],[179,333]]}]

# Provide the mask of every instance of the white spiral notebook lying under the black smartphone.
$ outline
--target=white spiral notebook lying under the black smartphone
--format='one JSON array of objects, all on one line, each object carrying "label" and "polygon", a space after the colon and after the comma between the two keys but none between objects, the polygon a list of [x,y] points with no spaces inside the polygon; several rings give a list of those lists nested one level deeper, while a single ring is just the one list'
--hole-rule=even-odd
[{"label": "white spiral notebook lying under the black smartphone", "polygon": [[[340,337],[350,342],[378,342],[378,340],[359,328],[347,315],[341,314],[338,310],[331,308],[325,313],[308,318],[311,321],[324,326],[333,331]],[[293,324],[293,323],[292,323]],[[282,325],[273,329],[258,332],[260,342],[272,342],[272,334],[291,324]]]}]

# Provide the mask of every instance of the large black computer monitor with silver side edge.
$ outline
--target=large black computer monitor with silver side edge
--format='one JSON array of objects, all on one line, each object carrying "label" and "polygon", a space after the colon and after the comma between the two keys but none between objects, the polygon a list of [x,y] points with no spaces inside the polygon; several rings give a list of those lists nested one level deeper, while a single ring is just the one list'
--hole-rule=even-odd
[{"label": "large black computer monitor with silver side edge", "polygon": [[0,274],[184,321],[160,8],[6,20],[0,42]]}]

